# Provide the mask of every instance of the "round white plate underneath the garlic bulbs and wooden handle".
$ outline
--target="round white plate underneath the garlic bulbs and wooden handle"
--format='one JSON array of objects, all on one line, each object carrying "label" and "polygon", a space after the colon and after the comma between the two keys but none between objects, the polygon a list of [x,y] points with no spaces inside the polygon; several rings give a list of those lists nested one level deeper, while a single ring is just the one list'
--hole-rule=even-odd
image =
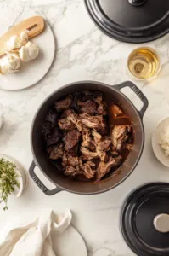
[{"label": "round white plate underneath the garlic bulbs and wooden handle", "polygon": [[31,38],[31,41],[36,43],[40,49],[37,59],[22,63],[17,73],[0,75],[0,89],[23,90],[36,84],[48,72],[54,61],[55,42],[54,34],[47,22],[42,34]]}]

